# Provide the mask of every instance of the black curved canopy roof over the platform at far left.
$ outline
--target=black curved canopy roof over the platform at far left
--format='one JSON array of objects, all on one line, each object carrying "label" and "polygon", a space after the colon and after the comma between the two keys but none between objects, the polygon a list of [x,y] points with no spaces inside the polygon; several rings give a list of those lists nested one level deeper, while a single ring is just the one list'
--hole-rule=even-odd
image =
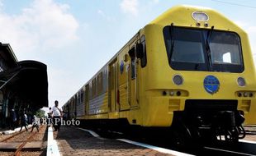
[{"label": "black curved canopy roof over the platform at far left", "polygon": [[[1,46],[2,62],[12,66],[2,66],[0,90],[7,99],[16,103],[28,103],[30,108],[48,106],[48,78],[45,64],[36,61],[16,62],[8,44]],[[8,45],[9,46],[9,45]],[[12,50],[12,49],[11,49]],[[5,60],[3,60],[5,58]]]}]

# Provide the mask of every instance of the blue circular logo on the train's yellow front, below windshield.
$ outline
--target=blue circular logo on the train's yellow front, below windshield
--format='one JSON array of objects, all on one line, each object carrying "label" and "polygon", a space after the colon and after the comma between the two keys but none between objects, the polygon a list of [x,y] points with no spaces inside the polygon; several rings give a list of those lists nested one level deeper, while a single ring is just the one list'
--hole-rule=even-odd
[{"label": "blue circular logo on the train's yellow front, below windshield", "polygon": [[206,76],[205,80],[203,81],[203,85],[206,92],[215,94],[220,88],[220,81],[216,78],[216,76]]}]

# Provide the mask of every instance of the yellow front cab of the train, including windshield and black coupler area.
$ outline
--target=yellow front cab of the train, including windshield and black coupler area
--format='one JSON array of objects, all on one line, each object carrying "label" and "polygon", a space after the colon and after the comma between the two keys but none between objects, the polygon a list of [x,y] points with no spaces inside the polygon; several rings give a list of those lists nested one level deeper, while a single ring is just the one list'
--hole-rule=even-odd
[{"label": "yellow front cab of the train, including windshield and black coupler area", "polygon": [[178,6],[145,26],[144,126],[183,137],[236,142],[255,124],[256,78],[249,39],[208,8]]}]

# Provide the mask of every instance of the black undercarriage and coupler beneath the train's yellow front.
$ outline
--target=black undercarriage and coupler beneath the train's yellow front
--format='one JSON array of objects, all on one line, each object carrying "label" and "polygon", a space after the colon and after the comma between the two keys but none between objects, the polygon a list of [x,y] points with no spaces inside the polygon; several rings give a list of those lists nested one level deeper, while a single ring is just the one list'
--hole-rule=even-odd
[{"label": "black undercarriage and coupler beneath the train's yellow front", "polygon": [[174,112],[172,138],[180,145],[237,143],[245,136],[243,122],[236,100],[187,100],[184,111]]}]

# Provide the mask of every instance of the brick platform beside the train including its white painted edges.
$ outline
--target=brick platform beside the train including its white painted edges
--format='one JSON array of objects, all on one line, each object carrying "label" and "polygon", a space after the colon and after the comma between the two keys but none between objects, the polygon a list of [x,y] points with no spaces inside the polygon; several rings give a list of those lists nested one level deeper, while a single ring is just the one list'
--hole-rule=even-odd
[{"label": "brick platform beside the train including its white painted edges", "polygon": [[136,145],[135,142],[130,140],[111,140],[101,138],[97,134],[93,134],[91,131],[89,132],[73,126],[62,126],[60,131],[52,131],[52,128],[50,127],[48,130],[48,139],[47,156],[188,155],[140,143]]}]

